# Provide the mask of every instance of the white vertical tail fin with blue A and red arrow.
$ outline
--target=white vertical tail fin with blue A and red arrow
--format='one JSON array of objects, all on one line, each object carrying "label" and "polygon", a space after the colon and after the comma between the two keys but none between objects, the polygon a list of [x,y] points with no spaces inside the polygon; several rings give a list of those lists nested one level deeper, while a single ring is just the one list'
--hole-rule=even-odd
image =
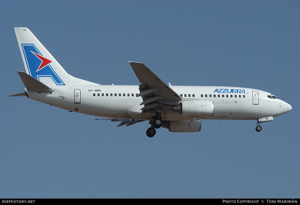
[{"label": "white vertical tail fin with blue A and red arrow", "polygon": [[14,29],[27,74],[50,87],[97,85],[69,75],[28,28]]}]

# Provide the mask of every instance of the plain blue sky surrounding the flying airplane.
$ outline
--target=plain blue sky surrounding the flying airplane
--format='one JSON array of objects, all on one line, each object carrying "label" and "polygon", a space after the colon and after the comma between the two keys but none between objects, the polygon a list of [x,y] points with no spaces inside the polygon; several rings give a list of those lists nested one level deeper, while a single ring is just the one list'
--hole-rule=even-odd
[{"label": "plain blue sky surrounding the flying airplane", "polygon": [[[0,198],[300,198],[299,1],[1,1]],[[292,110],[262,123],[202,120],[197,133],[129,127],[26,97],[13,27],[71,75],[139,85],[268,91]],[[97,117],[96,117],[97,118]]]}]

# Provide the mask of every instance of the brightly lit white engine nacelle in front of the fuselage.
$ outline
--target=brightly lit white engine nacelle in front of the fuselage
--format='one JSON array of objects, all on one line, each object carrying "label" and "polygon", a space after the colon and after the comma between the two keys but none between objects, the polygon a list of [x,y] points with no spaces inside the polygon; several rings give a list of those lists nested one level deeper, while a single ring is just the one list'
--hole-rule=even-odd
[{"label": "brightly lit white engine nacelle in front of the fuselage", "polygon": [[214,102],[209,100],[187,100],[174,107],[174,111],[191,117],[212,117]]}]

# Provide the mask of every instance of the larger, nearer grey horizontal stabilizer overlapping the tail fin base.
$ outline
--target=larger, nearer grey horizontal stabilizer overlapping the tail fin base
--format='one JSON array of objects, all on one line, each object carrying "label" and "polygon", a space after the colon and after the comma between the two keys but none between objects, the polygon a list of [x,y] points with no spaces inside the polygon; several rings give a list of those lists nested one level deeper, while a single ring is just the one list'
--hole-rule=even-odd
[{"label": "larger, nearer grey horizontal stabilizer overlapping the tail fin base", "polygon": [[21,72],[21,71],[18,71],[18,74],[28,91],[37,92],[37,93],[52,93],[52,92],[54,92],[54,90],[52,88],[49,88],[47,85],[38,81],[34,77],[31,77],[30,75],[28,75],[24,72]]}]

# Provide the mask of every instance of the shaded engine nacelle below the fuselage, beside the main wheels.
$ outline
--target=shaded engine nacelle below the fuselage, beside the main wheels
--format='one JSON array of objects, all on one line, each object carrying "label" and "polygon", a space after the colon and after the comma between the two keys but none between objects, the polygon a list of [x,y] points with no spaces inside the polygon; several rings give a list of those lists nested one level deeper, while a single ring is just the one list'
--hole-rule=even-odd
[{"label": "shaded engine nacelle below the fuselage, beside the main wheels", "polygon": [[163,121],[162,127],[169,129],[170,132],[199,132],[201,120]]}]

